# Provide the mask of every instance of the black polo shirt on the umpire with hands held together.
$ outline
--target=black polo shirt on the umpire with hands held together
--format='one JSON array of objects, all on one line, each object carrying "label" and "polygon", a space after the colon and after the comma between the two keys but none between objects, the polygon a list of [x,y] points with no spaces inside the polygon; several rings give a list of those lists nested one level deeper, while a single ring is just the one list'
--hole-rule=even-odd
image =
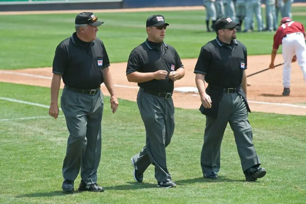
[{"label": "black polo shirt on the umpire with hands held together", "polygon": [[[130,55],[126,68],[126,74],[133,72],[155,72],[166,70],[168,73],[183,68],[181,58],[174,47],[166,43],[154,43],[148,39],[135,47]],[[158,92],[173,92],[174,81],[169,79],[169,74],[164,80],[153,79],[151,81],[138,83],[139,87],[152,89]]]}]

